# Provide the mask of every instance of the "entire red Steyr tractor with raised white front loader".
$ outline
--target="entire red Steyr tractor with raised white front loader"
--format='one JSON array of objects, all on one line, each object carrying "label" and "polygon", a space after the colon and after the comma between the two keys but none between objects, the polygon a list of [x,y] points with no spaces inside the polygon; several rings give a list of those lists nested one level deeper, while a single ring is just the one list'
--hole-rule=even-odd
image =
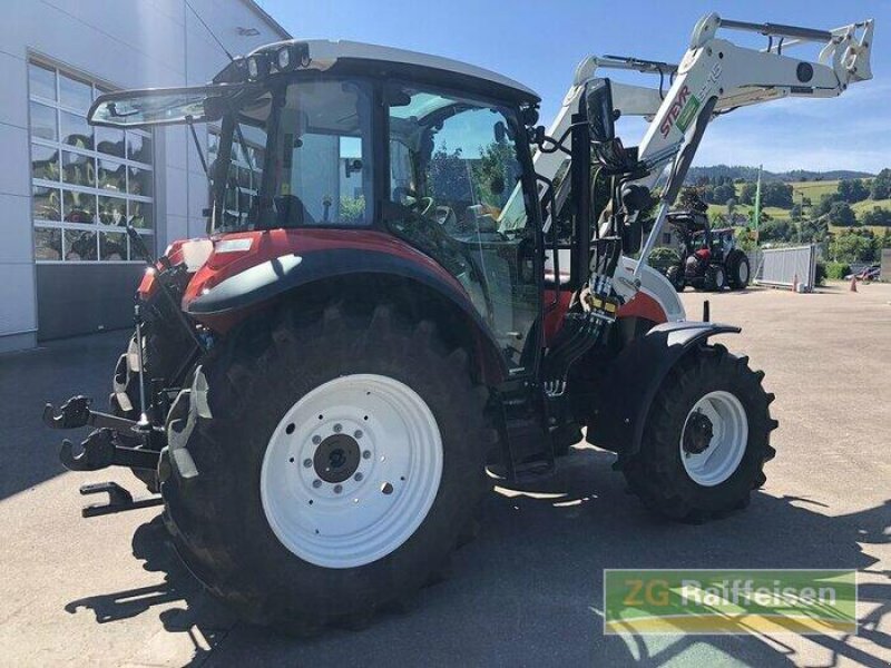
[{"label": "entire red Steyr tractor with raised white front loader", "polygon": [[62,443],[68,468],[129,465],[160,489],[105,487],[117,502],[90,512],[163,502],[213,593],[309,632],[402,605],[473,534],[487,465],[545,473],[581,428],[658,513],[744,507],[774,455],[773,396],[708,342],[738,328],[687,322],[646,258],[718,101],[839,95],[869,78],[872,24],[766,28],[840,50],[807,71],[722,24],[765,30],[705,17],[637,149],[615,136],[607,79],[577,77],[574,120],[548,135],[520,84],[352,42],[271,45],[206,87],[99,98],[94,124],[212,122],[221,140],[209,239],[150,259],[114,414],[47,406],[51,426],[98,428],[80,454]]}]

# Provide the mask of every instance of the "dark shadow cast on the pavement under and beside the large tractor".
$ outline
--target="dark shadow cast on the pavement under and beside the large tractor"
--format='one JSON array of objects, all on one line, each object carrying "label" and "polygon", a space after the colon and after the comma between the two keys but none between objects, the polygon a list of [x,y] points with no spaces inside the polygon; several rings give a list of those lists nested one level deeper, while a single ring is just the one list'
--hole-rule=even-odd
[{"label": "dark shadow cast on the pavement under and beside the large tractor", "polygon": [[[419,595],[405,615],[386,615],[364,631],[330,630],[297,640],[237,623],[204,592],[169,544],[160,518],[140,525],[134,557],[164,574],[156,587],[92,596],[66,609],[89,609],[99,623],[124,622],[161,608],[169,635],[186,633],[193,662],[214,665],[540,665],[792,666],[814,644],[825,665],[887,666],[891,572],[878,570],[891,542],[891,500],[830,517],[819,499],[758,492],[742,513],[702,525],[647,513],[610,471],[614,456],[574,449],[547,479],[499,487],[484,505],[477,540],[456,553],[452,578]],[[605,636],[605,568],[849,568],[861,571],[856,646],[850,637]],[[225,642],[223,640],[225,639]],[[173,638],[158,633],[157,642]],[[863,647],[873,648],[870,651]],[[813,649],[813,646],[811,647]],[[153,648],[146,662],[151,662]],[[157,649],[157,651],[161,651]],[[810,661],[813,664],[813,661]],[[822,660],[821,660],[822,665]]]}]

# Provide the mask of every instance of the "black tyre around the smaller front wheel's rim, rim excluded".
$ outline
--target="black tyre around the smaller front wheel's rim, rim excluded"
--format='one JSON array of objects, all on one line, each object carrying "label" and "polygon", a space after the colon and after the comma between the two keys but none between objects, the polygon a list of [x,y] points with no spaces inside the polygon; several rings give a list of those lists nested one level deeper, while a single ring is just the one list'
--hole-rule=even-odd
[{"label": "black tyre around the smaller front wheel's rim, rim excluded", "polygon": [[[775,455],[770,444],[777,426],[770,411],[774,396],[764,392],[763,377],[748,367],[747,357],[736,357],[722,345],[702,345],[676,365],[656,395],[640,451],[623,462],[628,485],[644,505],[675,520],[699,522],[748,504],[752,490],[765,482],[764,463]],[[736,470],[724,482],[704,487],[687,473],[679,444],[693,406],[717,390],[742,403],[748,439]]]}]

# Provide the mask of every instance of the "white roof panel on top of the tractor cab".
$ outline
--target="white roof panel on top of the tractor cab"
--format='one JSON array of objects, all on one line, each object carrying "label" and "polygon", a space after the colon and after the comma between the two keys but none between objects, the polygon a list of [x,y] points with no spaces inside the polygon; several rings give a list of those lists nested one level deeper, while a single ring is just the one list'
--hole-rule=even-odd
[{"label": "white roof panel on top of the tractor cab", "polygon": [[509,77],[499,75],[482,67],[477,67],[460,60],[419,53],[407,49],[395,49],[380,45],[370,45],[349,40],[326,40],[326,39],[293,39],[274,42],[261,47],[246,58],[255,53],[274,52],[276,49],[287,45],[306,45],[310,51],[310,65],[305,69],[320,71],[327,70],[339,62],[368,60],[370,62],[385,63],[392,66],[409,66],[413,68],[427,68],[438,70],[440,73],[452,73],[462,77],[470,77],[488,85],[496,85],[502,89],[512,91],[518,98],[530,102],[539,102],[540,97],[535,90],[523,86]]}]

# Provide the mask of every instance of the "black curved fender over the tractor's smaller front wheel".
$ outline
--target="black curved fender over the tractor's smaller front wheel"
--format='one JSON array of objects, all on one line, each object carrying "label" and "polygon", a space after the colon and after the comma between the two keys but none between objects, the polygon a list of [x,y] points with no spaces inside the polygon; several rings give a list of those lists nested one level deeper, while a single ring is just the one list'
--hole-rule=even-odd
[{"label": "black curved fender over the tractor's smaller front wheel", "polygon": [[637,452],[653,401],[668,372],[709,336],[741,331],[717,323],[664,323],[631,341],[604,377],[586,440],[619,454]]}]

